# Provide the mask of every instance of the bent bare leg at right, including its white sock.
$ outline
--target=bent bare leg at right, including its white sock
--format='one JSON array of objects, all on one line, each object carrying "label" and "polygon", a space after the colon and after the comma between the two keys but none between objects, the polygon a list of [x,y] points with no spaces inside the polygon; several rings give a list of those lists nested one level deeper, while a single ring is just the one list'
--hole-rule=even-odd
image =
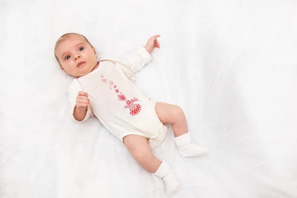
[{"label": "bent bare leg at right, including its white sock", "polygon": [[157,116],[163,124],[171,124],[176,138],[174,141],[181,155],[195,157],[207,153],[208,149],[195,145],[188,133],[188,123],[183,109],[177,105],[156,102]]}]

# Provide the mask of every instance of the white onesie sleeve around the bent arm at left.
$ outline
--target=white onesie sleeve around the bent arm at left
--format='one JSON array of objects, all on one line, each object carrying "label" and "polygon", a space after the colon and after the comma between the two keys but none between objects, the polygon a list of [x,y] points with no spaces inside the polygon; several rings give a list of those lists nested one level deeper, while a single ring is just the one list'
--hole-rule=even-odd
[{"label": "white onesie sleeve around the bent arm at left", "polygon": [[75,103],[76,103],[76,97],[78,95],[78,93],[80,91],[83,91],[81,86],[79,85],[78,81],[76,79],[74,79],[72,81],[72,83],[69,85],[68,87],[68,101],[69,101],[69,108],[68,108],[68,113],[69,113],[69,116],[75,121],[75,122],[84,122],[86,121],[90,115],[91,115],[91,112],[90,112],[90,109],[88,108],[87,110],[87,114],[86,114],[86,117],[82,120],[82,121],[77,121],[74,116],[73,116],[73,112],[74,112],[74,107],[75,107]]}]

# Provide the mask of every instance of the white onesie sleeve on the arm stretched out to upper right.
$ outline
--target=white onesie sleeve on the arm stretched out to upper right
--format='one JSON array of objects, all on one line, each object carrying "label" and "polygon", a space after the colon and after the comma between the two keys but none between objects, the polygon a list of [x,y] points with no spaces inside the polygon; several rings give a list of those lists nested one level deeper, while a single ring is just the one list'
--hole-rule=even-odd
[{"label": "white onesie sleeve on the arm stretched out to upper right", "polygon": [[119,61],[127,65],[133,71],[133,73],[141,70],[150,60],[150,54],[142,46],[140,46],[124,58],[119,59]]}]

